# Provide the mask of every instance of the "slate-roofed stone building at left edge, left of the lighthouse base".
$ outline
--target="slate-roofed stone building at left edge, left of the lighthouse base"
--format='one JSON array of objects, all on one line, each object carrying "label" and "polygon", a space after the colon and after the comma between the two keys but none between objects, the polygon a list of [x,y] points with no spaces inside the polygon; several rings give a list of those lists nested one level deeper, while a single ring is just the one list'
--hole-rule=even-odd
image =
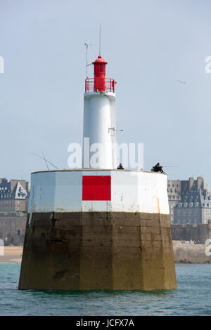
[{"label": "slate-roofed stone building at left edge, left of the lighthouse base", "polygon": [[27,211],[30,183],[0,178],[0,212]]}]

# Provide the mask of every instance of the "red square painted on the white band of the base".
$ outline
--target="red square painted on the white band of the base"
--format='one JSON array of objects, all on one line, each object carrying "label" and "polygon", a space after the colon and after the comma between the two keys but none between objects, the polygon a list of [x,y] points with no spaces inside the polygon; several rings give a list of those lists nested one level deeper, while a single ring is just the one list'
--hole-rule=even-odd
[{"label": "red square painted on the white band of the base", "polygon": [[110,176],[83,176],[83,201],[110,201]]}]

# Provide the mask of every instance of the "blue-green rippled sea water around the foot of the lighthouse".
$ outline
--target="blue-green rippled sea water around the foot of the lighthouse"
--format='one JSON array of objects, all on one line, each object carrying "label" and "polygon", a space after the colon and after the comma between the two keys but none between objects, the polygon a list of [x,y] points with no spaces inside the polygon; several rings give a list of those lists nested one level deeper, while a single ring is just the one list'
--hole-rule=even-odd
[{"label": "blue-green rippled sea water around the foot of the lighthouse", "polygon": [[0,263],[0,315],[211,315],[211,265],[176,272],[170,291],[20,291],[20,264]]}]

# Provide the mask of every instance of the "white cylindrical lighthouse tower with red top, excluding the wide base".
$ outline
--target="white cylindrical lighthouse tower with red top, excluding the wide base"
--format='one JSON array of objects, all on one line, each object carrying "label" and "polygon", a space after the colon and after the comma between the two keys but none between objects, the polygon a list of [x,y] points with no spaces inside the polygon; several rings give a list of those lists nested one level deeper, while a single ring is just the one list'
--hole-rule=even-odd
[{"label": "white cylindrical lighthouse tower with red top, excluding the wide base", "polygon": [[116,169],[115,80],[106,78],[101,55],[93,62],[94,78],[85,81],[83,168]]}]

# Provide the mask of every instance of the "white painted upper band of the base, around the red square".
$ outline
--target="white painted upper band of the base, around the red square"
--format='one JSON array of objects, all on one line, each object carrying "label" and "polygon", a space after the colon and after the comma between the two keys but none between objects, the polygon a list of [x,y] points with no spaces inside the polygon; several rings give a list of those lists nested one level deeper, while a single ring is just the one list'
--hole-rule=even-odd
[{"label": "white painted upper band of the base, around the red square", "polygon": [[[111,176],[111,201],[82,201],[82,176]],[[169,214],[167,176],[144,171],[32,173],[29,212],[114,211]]]}]

